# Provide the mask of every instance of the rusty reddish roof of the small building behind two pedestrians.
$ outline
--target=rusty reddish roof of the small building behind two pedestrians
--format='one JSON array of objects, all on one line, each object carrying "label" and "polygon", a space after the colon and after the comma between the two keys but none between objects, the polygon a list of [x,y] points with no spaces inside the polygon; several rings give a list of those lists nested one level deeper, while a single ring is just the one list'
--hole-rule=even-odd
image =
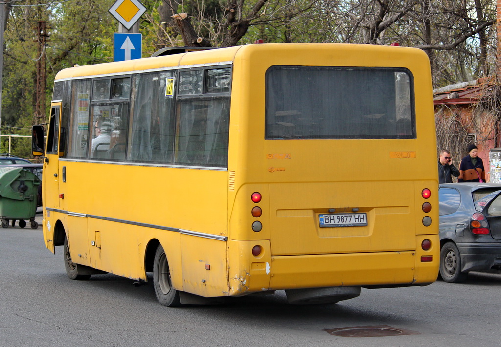
[{"label": "rusty reddish roof of the small building behind two pedestrians", "polygon": [[433,104],[476,104],[492,94],[494,90],[493,86],[493,78],[482,77],[475,81],[443,87],[433,92]]}]

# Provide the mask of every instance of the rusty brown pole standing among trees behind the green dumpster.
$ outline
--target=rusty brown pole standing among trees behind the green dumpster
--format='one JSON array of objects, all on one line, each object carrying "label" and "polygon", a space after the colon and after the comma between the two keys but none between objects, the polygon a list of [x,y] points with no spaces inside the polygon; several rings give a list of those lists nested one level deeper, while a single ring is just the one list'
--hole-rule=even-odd
[{"label": "rusty brown pole standing among trees behind the green dumpster", "polygon": [[47,87],[47,67],[45,64],[45,44],[49,41],[47,22],[38,21],[37,26],[38,56],[37,85],[35,89],[34,124],[45,123],[45,89]]}]

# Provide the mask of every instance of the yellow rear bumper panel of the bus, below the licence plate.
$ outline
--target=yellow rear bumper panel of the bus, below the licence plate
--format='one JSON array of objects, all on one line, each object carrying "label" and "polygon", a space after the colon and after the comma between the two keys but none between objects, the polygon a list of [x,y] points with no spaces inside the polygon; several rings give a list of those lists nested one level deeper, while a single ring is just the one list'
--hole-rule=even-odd
[{"label": "yellow rear bumper panel of the bus, below the licence plate", "polygon": [[415,251],[272,256],[270,289],[434,282],[438,256],[426,263],[419,262],[418,256]]}]

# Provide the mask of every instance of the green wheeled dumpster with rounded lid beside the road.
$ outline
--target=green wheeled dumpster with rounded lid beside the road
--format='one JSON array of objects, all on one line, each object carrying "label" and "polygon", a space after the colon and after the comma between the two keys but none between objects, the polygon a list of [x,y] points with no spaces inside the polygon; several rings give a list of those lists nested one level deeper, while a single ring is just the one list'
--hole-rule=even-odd
[{"label": "green wheeled dumpster with rounded lid beside the road", "polygon": [[35,221],[37,213],[37,193],[40,179],[23,168],[0,167],[0,218],[2,227],[8,228],[9,221],[24,228],[30,220],[32,229],[38,228]]}]

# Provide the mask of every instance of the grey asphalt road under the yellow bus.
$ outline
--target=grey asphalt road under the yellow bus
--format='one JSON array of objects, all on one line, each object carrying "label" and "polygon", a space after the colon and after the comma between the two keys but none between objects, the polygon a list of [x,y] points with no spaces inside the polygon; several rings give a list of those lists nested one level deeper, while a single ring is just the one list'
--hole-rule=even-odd
[{"label": "grey asphalt road under the yellow bus", "polygon": [[[40,216],[37,217],[40,219]],[[62,247],[41,227],[0,229],[0,346],[499,346],[501,275],[463,284],[362,289],[334,305],[294,306],[285,293],[223,305],[166,308],[151,282],[112,274],[66,276]],[[397,336],[344,337],[325,329]],[[393,329],[389,329],[389,328]],[[386,330],[381,330],[386,328]]]}]

